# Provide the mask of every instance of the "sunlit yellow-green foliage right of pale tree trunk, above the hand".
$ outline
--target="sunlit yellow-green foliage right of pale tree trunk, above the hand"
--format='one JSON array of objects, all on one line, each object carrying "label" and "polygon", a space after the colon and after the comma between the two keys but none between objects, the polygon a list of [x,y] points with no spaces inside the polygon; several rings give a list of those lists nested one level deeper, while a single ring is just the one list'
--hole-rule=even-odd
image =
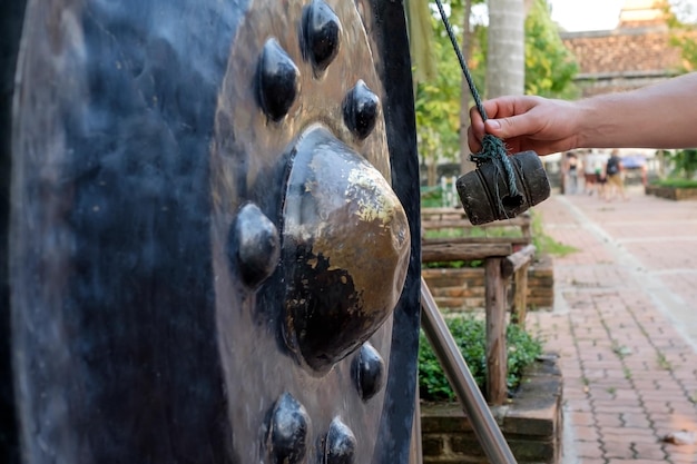
[{"label": "sunlit yellow-green foliage right of pale tree trunk, above the hand", "polygon": [[533,0],[526,19],[526,92],[575,98],[578,63],[561,41],[547,0]]}]

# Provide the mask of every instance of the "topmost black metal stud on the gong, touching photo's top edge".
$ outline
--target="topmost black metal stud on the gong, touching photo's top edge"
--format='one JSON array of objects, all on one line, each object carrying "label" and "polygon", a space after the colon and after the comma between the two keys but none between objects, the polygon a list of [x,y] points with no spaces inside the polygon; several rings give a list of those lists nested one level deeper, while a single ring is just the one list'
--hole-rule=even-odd
[{"label": "topmost black metal stud on the gong, touching photo's top edge", "polygon": [[336,58],[342,27],[338,17],[323,0],[313,0],[303,9],[303,55],[320,73]]}]

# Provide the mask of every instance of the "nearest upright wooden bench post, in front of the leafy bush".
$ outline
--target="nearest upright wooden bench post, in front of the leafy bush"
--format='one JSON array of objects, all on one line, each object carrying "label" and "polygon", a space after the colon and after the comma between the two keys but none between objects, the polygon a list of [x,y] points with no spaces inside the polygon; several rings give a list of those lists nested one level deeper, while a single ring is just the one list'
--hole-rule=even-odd
[{"label": "nearest upright wooden bench post, in front of the leafy bush", "polygon": [[501,276],[501,257],[484,261],[487,294],[487,399],[502,405],[508,397],[505,349],[505,285]]}]

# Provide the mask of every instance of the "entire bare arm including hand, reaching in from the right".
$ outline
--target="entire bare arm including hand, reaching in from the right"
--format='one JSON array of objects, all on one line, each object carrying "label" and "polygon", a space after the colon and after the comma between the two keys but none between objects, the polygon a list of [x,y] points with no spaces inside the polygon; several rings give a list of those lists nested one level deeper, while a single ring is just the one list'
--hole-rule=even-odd
[{"label": "entire bare arm including hand, reaching in from the right", "polygon": [[487,124],[474,108],[470,149],[492,134],[511,152],[538,155],[573,148],[697,147],[697,72],[641,89],[578,101],[541,97],[500,97],[484,101]]}]

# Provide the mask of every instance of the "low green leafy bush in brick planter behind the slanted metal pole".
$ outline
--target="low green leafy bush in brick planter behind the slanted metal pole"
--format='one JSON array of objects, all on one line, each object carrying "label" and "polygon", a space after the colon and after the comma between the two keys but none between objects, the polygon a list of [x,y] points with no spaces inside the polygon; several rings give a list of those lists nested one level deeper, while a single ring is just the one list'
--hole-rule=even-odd
[{"label": "low green leafy bush in brick planter behind the slanted metal pole", "polygon": [[[474,381],[483,392],[487,378],[487,326],[484,320],[471,316],[446,318],[453,338],[460,347]],[[507,328],[509,392],[521,382],[523,369],[542,354],[542,342],[520,326],[510,324]],[[454,401],[448,378],[441,368],[423,330],[419,340],[419,393],[425,401]]]}]

